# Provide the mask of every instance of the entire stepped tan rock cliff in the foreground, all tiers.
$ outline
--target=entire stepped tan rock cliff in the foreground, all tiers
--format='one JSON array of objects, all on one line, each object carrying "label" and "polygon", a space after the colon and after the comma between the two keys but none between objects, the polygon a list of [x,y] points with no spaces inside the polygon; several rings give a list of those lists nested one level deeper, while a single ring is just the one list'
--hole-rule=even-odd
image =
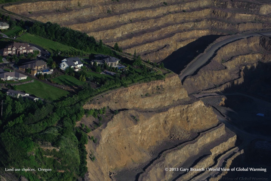
[{"label": "entire stepped tan rock cliff in the foreground, all tiers", "polygon": [[[141,96],[146,93],[150,96]],[[131,176],[129,169],[145,167],[156,157],[153,150],[163,152],[165,157],[157,157],[144,174],[136,171],[139,179],[173,179],[176,176],[157,169],[165,165],[179,167],[191,157],[196,159],[203,150],[210,152],[213,148],[213,157],[201,163],[208,165],[214,162],[216,155],[234,146],[236,139],[225,131],[223,124],[218,124],[211,107],[187,96],[177,75],[105,93],[95,97],[84,108],[104,106],[117,109],[119,113],[89,133],[90,137],[98,140],[97,144],[89,140],[86,145],[88,153],[96,158],[94,161],[87,158],[90,180],[118,180],[119,176],[114,177],[112,173],[118,174],[123,170],[126,172],[122,176],[126,174],[130,180],[135,180],[135,174]],[[231,141],[227,142],[229,138]],[[175,142],[170,149],[161,144],[168,141]],[[182,144],[184,141],[188,142]],[[217,148],[218,145],[221,148]]]}]

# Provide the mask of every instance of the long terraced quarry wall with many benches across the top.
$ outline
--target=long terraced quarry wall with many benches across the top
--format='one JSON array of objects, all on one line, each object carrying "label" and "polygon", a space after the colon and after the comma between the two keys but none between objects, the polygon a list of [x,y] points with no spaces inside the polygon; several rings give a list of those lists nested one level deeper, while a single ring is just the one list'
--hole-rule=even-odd
[{"label": "long terraced quarry wall with many benches across the top", "polygon": [[155,62],[202,36],[271,27],[271,5],[245,1],[61,0],[5,9],[85,32],[110,46],[117,42],[125,52],[136,50]]}]

